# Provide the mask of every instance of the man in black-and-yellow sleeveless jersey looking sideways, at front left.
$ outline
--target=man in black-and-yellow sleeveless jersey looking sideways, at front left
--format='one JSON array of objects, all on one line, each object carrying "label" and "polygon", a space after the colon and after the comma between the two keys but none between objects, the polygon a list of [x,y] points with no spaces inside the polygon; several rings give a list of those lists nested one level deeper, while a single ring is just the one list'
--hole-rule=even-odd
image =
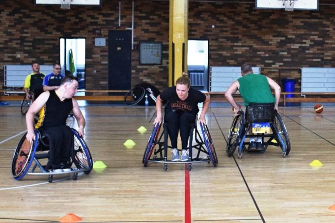
[{"label": "man in black-and-yellow sleeveless jersey looking sideways, at front left", "polygon": [[[72,110],[78,122],[78,133],[84,137],[85,119],[73,95],[77,93],[78,80],[67,75],[61,80],[57,90],[45,91],[29,107],[26,115],[27,139],[35,140],[34,128],[49,139],[50,159],[53,172],[69,172],[71,149],[73,148],[73,132],[66,125],[66,119]],[[39,119],[34,126],[34,115]]]}]

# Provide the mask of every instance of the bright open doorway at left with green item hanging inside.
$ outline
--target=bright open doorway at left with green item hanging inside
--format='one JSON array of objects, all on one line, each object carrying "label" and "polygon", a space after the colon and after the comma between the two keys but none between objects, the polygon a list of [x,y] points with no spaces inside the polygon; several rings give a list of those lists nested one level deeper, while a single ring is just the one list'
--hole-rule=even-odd
[{"label": "bright open doorway at left with green item hanging inside", "polygon": [[[64,76],[67,74],[76,76],[79,82],[78,89],[85,89],[85,51],[85,38],[59,39],[59,61],[62,67],[61,74]],[[73,64],[71,63],[71,57],[73,58]]]}]

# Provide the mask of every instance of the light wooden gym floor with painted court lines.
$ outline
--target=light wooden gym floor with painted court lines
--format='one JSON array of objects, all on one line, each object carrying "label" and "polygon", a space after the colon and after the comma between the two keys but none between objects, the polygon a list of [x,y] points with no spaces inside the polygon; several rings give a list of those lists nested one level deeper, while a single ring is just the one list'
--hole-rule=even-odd
[{"label": "light wooden gym floor with painted court lines", "polygon": [[[335,222],[335,105],[279,108],[289,132],[291,152],[277,147],[264,154],[225,153],[231,106],[211,103],[207,124],[219,164],[142,165],[152,130],[154,107],[85,104],[85,141],[94,161],[106,169],[88,175],[54,177],[11,175],[13,151],[26,125],[19,103],[0,106],[0,222],[57,222],[73,213],[81,222],[104,223],[330,223]],[[69,118],[68,124],[76,126]],[[140,126],[148,129],[141,134]],[[127,149],[123,143],[136,145]],[[322,167],[309,164],[319,160]]]}]

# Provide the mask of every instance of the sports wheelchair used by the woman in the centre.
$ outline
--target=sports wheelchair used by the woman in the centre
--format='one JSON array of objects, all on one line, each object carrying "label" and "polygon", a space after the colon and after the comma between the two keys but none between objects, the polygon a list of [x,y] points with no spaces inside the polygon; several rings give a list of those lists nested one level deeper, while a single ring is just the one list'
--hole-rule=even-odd
[{"label": "sports wheelchair used by the woman in the centre", "polygon": [[[218,164],[218,156],[215,152],[212,137],[209,133],[207,124],[199,124],[201,128],[202,138],[199,131],[197,130],[196,123],[191,124],[190,137],[189,137],[189,160],[188,161],[172,161],[168,159],[168,149],[172,149],[168,146],[168,124],[163,124],[163,132],[159,135],[162,124],[156,124],[149,137],[148,144],[144,150],[142,163],[144,167],[148,165],[148,162],[163,163],[163,169],[168,170],[168,163],[187,163],[188,170],[192,170],[192,163],[200,162],[212,162],[213,166],[216,167]],[[193,132],[195,129],[195,142],[193,145]],[[164,136],[164,141],[162,138]],[[156,145],[158,146],[155,149]],[[193,157],[193,150],[196,151],[196,156]],[[180,151],[180,149],[178,149]],[[164,154],[163,154],[164,152]],[[201,155],[201,157],[200,157]],[[151,156],[153,156],[151,158]],[[205,158],[204,158],[205,157]]]}]

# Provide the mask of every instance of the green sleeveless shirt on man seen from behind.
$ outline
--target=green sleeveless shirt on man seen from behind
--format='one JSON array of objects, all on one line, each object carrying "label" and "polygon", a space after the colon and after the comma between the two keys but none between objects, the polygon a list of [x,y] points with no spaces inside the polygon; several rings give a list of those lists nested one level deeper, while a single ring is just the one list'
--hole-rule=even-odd
[{"label": "green sleeveless shirt on man seen from behind", "polygon": [[268,80],[262,74],[247,74],[237,80],[244,105],[249,103],[275,103]]}]

